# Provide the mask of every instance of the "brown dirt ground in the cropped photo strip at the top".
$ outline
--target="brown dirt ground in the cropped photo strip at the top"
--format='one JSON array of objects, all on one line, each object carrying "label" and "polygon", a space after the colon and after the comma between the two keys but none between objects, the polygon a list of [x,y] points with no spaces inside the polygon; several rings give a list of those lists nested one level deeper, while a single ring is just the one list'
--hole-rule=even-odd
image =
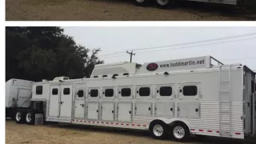
[{"label": "brown dirt ground in the cropped photo strip at the top", "polygon": [[134,0],[6,0],[8,21],[248,20],[238,14],[226,14],[222,10],[198,2],[184,2],[174,9],[161,10],[156,6],[134,6]]}]

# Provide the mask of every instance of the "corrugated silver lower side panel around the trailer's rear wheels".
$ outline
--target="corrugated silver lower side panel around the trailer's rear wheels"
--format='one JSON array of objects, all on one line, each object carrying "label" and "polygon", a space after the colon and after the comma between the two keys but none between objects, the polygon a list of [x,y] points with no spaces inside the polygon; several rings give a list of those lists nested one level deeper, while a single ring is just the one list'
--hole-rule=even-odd
[{"label": "corrugated silver lower side panel around the trailer's rear wheels", "polygon": [[[194,134],[205,134],[220,136],[220,117],[219,117],[219,102],[201,102],[200,104],[200,118],[179,118],[177,103],[175,106],[175,117],[174,119],[182,120],[187,122],[190,126],[191,132]],[[243,138],[243,121],[242,121],[242,102],[232,102],[230,105],[230,115],[223,116],[221,118],[222,122],[230,122],[231,126],[222,126],[222,130],[230,130],[231,138]],[[229,110],[226,106],[226,110]],[[138,124],[149,125],[154,119],[157,118],[170,118],[171,117],[143,117],[134,116],[133,122]],[[231,118],[231,120],[230,120]],[[231,129],[230,129],[231,128]],[[192,131],[193,130],[193,131]]]}]

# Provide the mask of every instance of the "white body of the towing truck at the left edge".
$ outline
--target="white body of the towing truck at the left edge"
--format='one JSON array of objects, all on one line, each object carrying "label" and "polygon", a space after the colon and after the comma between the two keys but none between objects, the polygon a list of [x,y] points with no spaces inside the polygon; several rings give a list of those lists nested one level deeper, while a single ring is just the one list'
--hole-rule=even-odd
[{"label": "white body of the towing truck at the left edge", "polygon": [[[33,82],[22,79],[10,79],[6,82],[6,118],[15,117],[17,110],[24,111],[30,107]],[[19,112],[21,113],[21,112]]]}]

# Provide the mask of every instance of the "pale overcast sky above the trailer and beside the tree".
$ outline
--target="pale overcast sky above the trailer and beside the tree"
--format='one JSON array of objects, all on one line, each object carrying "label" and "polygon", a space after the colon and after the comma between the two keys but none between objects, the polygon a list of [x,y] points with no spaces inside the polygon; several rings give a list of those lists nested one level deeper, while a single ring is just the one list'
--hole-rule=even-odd
[{"label": "pale overcast sky above the trailer and beside the tree", "polygon": [[77,44],[89,49],[101,48],[98,57],[105,63],[130,62],[126,50],[134,50],[133,62],[138,63],[210,55],[225,64],[242,63],[256,70],[256,26],[62,28]]}]

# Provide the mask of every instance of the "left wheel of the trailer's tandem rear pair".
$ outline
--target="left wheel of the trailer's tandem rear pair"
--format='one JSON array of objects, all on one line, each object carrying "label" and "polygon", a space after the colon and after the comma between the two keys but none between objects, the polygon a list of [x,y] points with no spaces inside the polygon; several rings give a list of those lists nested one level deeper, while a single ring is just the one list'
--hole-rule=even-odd
[{"label": "left wheel of the trailer's tandem rear pair", "polygon": [[150,124],[150,132],[156,139],[165,139],[169,134],[169,127],[165,122],[156,121]]}]

